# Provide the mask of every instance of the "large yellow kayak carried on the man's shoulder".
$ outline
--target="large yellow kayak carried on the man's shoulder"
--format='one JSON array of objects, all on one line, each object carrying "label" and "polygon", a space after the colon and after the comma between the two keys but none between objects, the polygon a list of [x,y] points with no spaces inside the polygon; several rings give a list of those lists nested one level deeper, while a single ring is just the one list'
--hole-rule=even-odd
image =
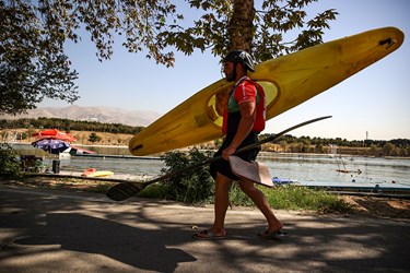
[{"label": "large yellow kayak carried on the man's shoulder", "polygon": [[[249,76],[263,86],[271,119],[391,54],[403,38],[396,27],[373,29],[265,61]],[[222,136],[222,102],[231,86],[216,81],[165,114],[130,140],[131,154],[150,155]]]}]

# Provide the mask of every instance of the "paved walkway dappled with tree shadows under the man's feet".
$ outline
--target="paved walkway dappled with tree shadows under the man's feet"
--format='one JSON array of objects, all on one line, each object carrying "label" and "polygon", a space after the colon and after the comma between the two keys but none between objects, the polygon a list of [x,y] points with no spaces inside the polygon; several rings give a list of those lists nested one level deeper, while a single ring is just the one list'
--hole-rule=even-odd
[{"label": "paved walkway dappled with tree shadows under the man's feet", "polygon": [[278,211],[290,236],[262,240],[234,207],[227,238],[191,239],[210,207],[0,185],[0,272],[409,272],[410,222]]}]

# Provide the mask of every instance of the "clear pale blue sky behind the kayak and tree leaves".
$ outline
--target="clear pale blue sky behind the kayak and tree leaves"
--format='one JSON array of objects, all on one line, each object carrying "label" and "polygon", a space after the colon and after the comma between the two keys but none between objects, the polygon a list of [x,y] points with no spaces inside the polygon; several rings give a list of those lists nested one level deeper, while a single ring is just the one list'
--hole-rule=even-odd
[{"label": "clear pale blue sky behind the kayak and tree leaves", "polygon": [[[260,0],[255,1],[256,4]],[[408,0],[320,0],[308,14],[336,9],[340,14],[324,36],[325,41],[373,28],[396,26],[405,33],[402,46],[358,74],[271,119],[267,133],[277,133],[307,119],[331,115],[329,120],[297,129],[301,136],[348,140],[410,139],[410,1]],[[109,106],[165,114],[196,92],[221,79],[219,59],[196,51],[177,54],[174,68],[131,55],[116,41],[110,60],[98,62],[95,47],[86,37],[70,44],[67,54],[79,72],[80,106]],[[68,106],[46,100],[39,106]]]}]

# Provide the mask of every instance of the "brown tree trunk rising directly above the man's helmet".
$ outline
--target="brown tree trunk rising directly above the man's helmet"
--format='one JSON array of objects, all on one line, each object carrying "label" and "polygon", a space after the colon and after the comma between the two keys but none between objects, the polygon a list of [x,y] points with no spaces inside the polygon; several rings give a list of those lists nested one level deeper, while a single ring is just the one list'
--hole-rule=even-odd
[{"label": "brown tree trunk rising directly above the man's helmet", "polygon": [[254,0],[235,0],[233,14],[227,25],[229,49],[250,52],[254,32]]}]

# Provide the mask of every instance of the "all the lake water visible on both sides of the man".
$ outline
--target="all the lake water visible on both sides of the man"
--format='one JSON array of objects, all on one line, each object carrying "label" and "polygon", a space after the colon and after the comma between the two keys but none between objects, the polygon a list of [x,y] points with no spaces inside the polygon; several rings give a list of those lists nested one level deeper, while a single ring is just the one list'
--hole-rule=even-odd
[{"label": "all the lake water visible on both sides of the man", "polygon": [[[24,153],[37,153],[38,149],[30,145],[14,145]],[[98,154],[129,155],[127,147],[93,146],[85,147]],[[43,153],[43,151],[39,151]],[[50,159],[45,159],[45,163]],[[306,154],[274,154],[261,153],[259,162],[266,164],[272,177],[293,181],[318,182],[374,182],[401,183],[410,186],[410,158],[330,156]],[[159,176],[165,167],[160,159],[143,158],[110,158],[70,156],[60,159],[60,169],[71,173],[82,173],[87,168],[110,170],[116,175]],[[337,170],[349,170],[340,173]],[[360,170],[361,173],[358,173]]]}]

